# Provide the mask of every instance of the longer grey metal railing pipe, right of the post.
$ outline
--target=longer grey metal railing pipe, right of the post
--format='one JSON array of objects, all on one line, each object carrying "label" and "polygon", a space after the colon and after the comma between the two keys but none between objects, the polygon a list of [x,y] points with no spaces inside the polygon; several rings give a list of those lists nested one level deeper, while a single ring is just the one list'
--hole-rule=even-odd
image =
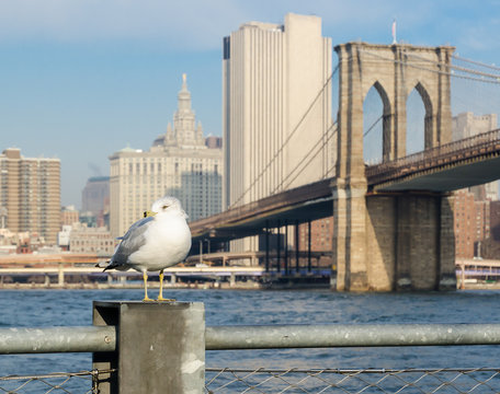
[{"label": "longer grey metal railing pipe, right of the post", "polygon": [[500,345],[500,324],[362,324],[206,327],[206,350]]}]

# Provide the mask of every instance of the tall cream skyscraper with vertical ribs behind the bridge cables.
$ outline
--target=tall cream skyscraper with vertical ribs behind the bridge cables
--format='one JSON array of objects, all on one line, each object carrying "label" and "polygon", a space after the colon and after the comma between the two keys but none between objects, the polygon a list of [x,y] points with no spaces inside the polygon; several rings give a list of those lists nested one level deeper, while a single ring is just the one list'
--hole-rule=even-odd
[{"label": "tall cream skyscraper with vertical ribs behind the bridge cables", "polygon": [[249,22],[224,38],[224,208],[332,175],[331,61],[318,16]]}]

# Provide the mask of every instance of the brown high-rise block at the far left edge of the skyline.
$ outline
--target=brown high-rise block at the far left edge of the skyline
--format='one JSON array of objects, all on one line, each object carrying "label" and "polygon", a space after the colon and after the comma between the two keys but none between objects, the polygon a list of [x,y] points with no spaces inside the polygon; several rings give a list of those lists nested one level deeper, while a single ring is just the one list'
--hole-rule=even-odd
[{"label": "brown high-rise block at the far left edge of the skyline", "polygon": [[0,154],[0,207],[7,228],[30,231],[48,244],[60,229],[60,160],[31,159],[9,148]]}]

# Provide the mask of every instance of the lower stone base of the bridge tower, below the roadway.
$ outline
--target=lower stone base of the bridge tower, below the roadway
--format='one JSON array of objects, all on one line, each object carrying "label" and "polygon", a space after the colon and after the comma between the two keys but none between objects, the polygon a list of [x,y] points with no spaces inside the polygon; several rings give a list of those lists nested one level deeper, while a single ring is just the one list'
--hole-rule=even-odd
[{"label": "lower stone base of the bridge tower, below the roadway", "polygon": [[333,193],[334,290],[456,289],[453,197]]}]

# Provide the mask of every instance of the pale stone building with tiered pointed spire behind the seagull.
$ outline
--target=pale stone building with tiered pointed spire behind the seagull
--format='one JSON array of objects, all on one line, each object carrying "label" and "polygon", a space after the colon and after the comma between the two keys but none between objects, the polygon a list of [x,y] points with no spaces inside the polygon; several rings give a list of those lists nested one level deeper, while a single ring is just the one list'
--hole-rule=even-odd
[{"label": "pale stone building with tiered pointed spire behind the seagull", "polygon": [[205,144],[203,128],[191,108],[185,74],[178,94],[173,127],[159,136],[149,151],[122,149],[110,157],[110,227],[122,235],[159,197],[181,200],[196,220],[218,213],[221,207],[223,150]]}]

